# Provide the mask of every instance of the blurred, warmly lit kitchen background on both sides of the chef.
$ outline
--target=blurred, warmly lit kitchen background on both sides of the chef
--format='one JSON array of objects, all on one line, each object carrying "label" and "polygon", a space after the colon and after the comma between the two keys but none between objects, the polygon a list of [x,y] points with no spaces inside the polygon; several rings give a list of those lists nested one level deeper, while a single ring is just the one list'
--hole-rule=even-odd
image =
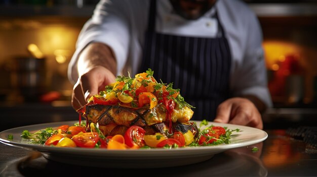
[{"label": "blurred, warmly lit kitchen background on both sides of the chef", "polygon": [[[264,36],[264,128],[317,125],[317,1],[245,0]],[[0,0],[0,131],[77,120],[67,65],[97,0]]]}]

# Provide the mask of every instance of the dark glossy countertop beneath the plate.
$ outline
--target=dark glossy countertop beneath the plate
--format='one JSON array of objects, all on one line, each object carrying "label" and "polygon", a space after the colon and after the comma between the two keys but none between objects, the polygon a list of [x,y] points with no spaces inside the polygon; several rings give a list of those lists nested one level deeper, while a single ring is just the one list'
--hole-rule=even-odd
[{"label": "dark glossy countertop beneath the plate", "polygon": [[[258,144],[215,154],[211,159],[185,166],[141,169],[150,176],[315,176],[317,152],[290,138],[285,130],[266,130]],[[253,152],[253,147],[259,150]],[[51,161],[41,153],[0,143],[0,176],[128,176],[137,169],[100,168]],[[83,162],[83,164],[89,162]],[[66,171],[66,173],[65,173]],[[68,172],[67,172],[68,171]]]}]

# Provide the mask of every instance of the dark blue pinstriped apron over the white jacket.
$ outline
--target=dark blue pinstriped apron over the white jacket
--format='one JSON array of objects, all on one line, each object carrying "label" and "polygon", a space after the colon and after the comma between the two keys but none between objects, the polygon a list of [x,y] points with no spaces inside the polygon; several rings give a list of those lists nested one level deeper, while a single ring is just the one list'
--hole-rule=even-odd
[{"label": "dark blue pinstriped apron over the white jacket", "polygon": [[185,101],[195,107],[192,120],[214,120],[218,105],[229,97],[231,55],[221,24],[220,37],[169,35],[155,32],[155,15],[154,0],[139,72],[150,68],[155,78],[179,88]]}]

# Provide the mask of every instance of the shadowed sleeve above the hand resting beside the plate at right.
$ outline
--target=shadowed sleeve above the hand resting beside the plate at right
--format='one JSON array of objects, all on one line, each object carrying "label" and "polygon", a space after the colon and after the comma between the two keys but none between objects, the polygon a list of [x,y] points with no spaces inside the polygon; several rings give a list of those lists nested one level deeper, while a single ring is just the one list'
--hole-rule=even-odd
[{"label": "shadowed sleeve above the hand resting beside the plate at right", "polygon": [[255,95],[268,107],[272,106],[267,87],[262,30],[254,14],[249,15],[246,26],[247,41],[243,61],[232,75],[233,96]]}]

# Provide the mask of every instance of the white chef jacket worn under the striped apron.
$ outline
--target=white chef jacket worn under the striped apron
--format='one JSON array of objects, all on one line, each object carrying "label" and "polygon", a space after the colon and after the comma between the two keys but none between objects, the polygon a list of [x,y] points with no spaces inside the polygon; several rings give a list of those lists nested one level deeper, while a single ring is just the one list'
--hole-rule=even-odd
[{"label": "white chef jacket worn under the striped apron", "polygon": [[[102,0],[92,18],[84,25],[68,67],[71,82],[78,79],[78,54],[91,42],[110,46],[117,61],[117,75],[136,74],[142,60],[145,31],[148,25],[149,0]],[[262,31],[256,15],[239,0],[218,0],[215,6],[197,20],[186,20],[175,14],[169,0],[157,1],[155,30],[160,33],[215,37],[217,11],[231,51],[230,90],[233,96],[256,95],[272,106],[267,88]],[[155,71],[154,71],[155,72]]]}]

